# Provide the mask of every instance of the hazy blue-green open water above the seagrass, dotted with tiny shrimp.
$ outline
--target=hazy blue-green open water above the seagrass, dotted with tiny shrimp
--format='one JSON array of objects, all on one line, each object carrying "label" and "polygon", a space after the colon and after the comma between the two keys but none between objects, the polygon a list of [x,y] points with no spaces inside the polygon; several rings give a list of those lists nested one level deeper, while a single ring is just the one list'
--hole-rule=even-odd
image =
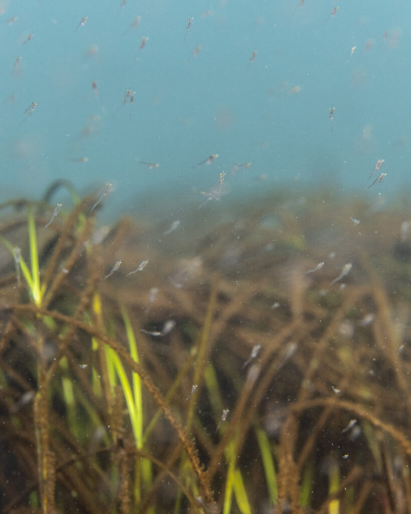
[{"label": "hazy blue-green open water above the seagrass, dotted with tiny shrimp", "polygon": [[[140,204],[155,212],[164,198],[200,205],[221,172],[228,194],[219,205],[277,186],[388,199],[408,189],[411,3],[0,7],[2,200],[40,198],[52,180],[66,178],[84,194],[113,182],[106,212]],[[128,88],[133,104],[123,103]],[[32,102],[38,106],[25,113]],[[215,153],[210,166],[192,168]],[[373,178],[387,175],[365,193],[377,159],[385,162]]]}]

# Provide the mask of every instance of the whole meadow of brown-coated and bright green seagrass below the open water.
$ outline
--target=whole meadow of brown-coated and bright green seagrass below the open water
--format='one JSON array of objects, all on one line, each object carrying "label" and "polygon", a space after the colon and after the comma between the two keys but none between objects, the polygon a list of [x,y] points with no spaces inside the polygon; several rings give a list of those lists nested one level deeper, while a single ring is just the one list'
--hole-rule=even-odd
[{"label": "whole meadow of brown-coated and bright green seagrass below the open water", "polygon": [[46,227],[62,185],[0,210],[4,514],[411,512],[405,200],[267,193],[164,234],[69,186]]}]

